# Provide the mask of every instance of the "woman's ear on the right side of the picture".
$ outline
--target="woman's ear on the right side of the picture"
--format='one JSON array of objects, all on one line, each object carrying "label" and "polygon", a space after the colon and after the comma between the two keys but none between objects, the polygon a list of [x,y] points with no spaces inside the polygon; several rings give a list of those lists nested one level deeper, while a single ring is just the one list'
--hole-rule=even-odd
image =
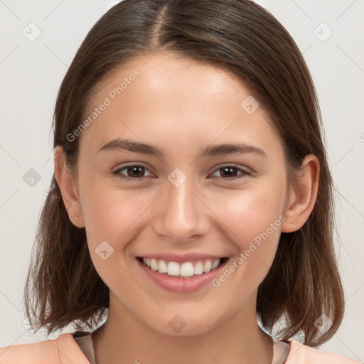
[{"label": "woman's ear on the right side of the picture", "polygon": [[314,154],[304,158],[300,170],[296,174],[296,185],[289,187],[286,220],[282,224],[282,232],[299,230],[309,218],[316,202],[319,188],[320,163]]}]

